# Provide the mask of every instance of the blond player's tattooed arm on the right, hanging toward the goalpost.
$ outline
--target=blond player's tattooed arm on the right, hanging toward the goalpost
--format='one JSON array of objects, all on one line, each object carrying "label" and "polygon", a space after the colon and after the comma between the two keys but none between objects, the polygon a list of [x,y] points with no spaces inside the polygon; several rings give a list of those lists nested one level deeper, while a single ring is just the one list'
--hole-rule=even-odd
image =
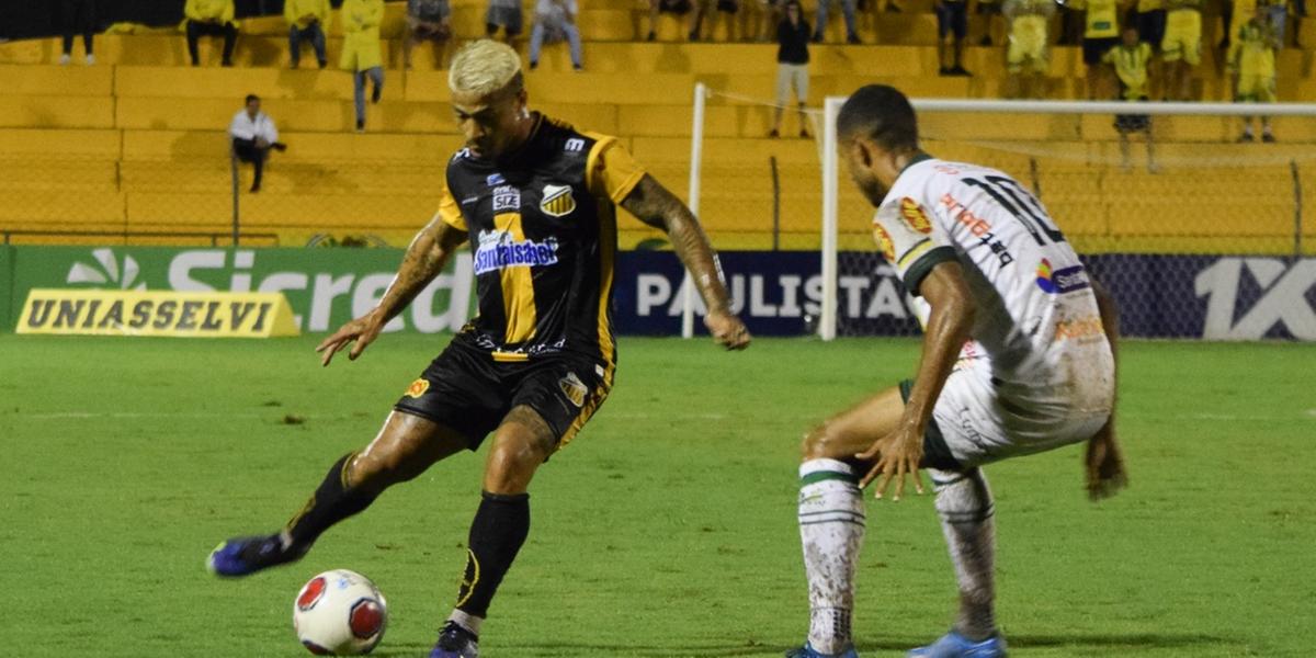
[{"label": "blond player's tattooed arm on the right, hanging toward the goalpost", "polygon": [[708,307],[708,315],[704,316],[708,330],[726,349],[745,349],[750,341],[749,330],[732,313],[730,295],[726,293],[717,255],[690,208],[647,174],[626,195],[621,207],[640,221],[667,232],[672,249]]}]

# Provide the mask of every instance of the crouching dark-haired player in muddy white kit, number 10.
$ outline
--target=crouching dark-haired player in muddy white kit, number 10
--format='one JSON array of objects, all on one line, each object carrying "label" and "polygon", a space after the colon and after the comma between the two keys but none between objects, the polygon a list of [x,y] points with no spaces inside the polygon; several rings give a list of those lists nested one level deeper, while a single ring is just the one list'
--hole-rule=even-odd
[{"label": "crouching dark-haired player in muddy white kit, number 10", "polygon": [[809,636],[791,658],[858,654],[850,638],[865,533],[861,490],[876,497],[928,468],[959,582],[951,630],[911,657],[995,658],[992,497],[979,466],[1087,441],[1094,499],[1125,483],[1115,440],[1111,297],[1042,204],[1008,175],[919,149],[913,108],[867,86],[837,117],[855,186],[878,208],[874,237],[916,297],[923,358],[912,380],[813,429],[800,465],[800,538]]}]

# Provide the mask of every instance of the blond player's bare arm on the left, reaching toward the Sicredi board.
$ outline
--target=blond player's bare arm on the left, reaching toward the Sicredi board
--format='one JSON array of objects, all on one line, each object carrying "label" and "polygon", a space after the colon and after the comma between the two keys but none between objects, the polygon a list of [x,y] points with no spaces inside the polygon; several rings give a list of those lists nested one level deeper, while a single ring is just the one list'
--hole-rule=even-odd
[{"label": "blond player's bare arm on the left, reaching toward the Sicredi board", "polygon": [[429,282],[443,271],[449,257],[466,242],[466,232],[449,225],[438,215],[416,234],[403,265],[397,268],[397,276],[388,286],[383,299],[368,313],[342,325],[333,336],[324,340],[316,351],[322,353],[320,363],[329,365],[334,353],[355,341],[349,359],[355,359],[365,349],[375,342],[384,325],[400,313],[407,304],[411,304],[416,295],[429,286]]}]

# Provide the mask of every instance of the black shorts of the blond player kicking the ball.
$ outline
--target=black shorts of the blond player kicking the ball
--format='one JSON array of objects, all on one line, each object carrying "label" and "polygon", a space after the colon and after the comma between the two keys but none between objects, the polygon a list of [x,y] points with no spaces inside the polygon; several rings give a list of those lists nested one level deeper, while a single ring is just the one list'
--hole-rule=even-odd
[{"label": "black shorts of the blond player kicking the ball", "polygon": [[453,340],[393,405],[461,432],[475,450],[513,407],[534,409],[558,447],[599,409],[612,387],[609,368],[574,354],[494,361],[488,350]]}]

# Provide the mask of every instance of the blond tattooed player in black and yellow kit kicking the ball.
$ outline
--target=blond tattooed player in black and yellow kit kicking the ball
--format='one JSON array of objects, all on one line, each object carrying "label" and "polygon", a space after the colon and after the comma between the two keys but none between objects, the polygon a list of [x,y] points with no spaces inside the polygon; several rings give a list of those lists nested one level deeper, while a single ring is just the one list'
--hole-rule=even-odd
[{"label": "blond tattooed player in black and yellow kit kicking the ball", "polygon": [[708,307],[705,324],[717,342],[742,349],[750,336],[730,312],[694,215],[615,138],[530,112],[511,47],[466,46],[453,59],[449,86],[466,147],[449,162],[438,213],[412,241],[379,305],[317,351],[329,365],[355,342],[347,354],[355,359],[467,242],[479,316],[412,383],[379,436],[329,468],[283,530],[229,540],[211,554],[209,567],[242,576],[295,561],[390,486],[475,450],[492,433],[466,574],[430,654],[475,658],[480,622],[529,533],[530,479],[612,387],[616,205],[667,232]]}]

